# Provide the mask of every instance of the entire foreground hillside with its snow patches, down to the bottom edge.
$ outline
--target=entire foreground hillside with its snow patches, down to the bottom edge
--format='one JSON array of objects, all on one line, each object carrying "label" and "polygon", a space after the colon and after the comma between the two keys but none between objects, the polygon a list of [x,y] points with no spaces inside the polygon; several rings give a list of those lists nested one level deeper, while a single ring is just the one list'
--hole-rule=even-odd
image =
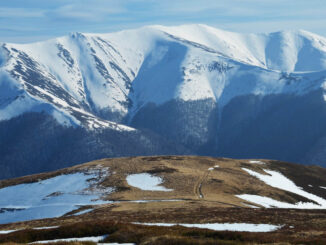
[{"label": "entire foreground hillside with its snow patches, down to the bottom edge", "polygon": [[0,181],[0,242],[322,244],[325,177],[321,167],[262,159],[102,159]]}]

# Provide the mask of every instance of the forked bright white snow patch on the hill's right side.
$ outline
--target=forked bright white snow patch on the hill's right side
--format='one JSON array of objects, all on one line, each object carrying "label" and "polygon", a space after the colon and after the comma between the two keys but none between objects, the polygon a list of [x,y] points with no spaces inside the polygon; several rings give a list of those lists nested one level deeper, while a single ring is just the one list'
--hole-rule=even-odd
[{"label": "forked bright white snow patch on the hill's right side", "polygon": [[285,190],[288,192],[295,193],[297,195],[303,196],[307,199],[310,199],[312,201],[315,201],[318,204],[308,202],[298,202],[296,204],[290,204],[285,202],[280,202],[277,200],[274,200],[269,197],[263,197],[258,195],[250,195],[250,194],[242,194],[242,195],[236,195],[237,197],[257,203],[263,207],[277,207],[277,208],[298,208],[298,209],[324,209],[326,208],[326,200],[316,196],[314,194],[311,194],[309,192],[304,191],[302,188],[295,185],[294,182],[292,182],[290,179],[285,177],[279,172],[272,171],[272,170],[264,170],[268,175],[260,174],[255,171],[252,171],[250,169],[242,168],[244,171],[249,173],[252,176],[255,176],[259,180],[263,181],[265,184],[270,185],[274,188],[278,188],[281,190]]}]

